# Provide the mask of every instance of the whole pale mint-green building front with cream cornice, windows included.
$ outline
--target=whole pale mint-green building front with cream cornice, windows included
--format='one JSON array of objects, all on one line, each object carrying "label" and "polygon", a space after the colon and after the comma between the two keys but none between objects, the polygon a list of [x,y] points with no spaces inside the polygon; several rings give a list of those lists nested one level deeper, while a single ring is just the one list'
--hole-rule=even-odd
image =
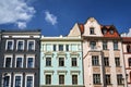
[{"label": "whole pale mint-green building front with cream cornice, windows included", "polygon": [[81,37],[41,37],[40,87],[84,87]]}]

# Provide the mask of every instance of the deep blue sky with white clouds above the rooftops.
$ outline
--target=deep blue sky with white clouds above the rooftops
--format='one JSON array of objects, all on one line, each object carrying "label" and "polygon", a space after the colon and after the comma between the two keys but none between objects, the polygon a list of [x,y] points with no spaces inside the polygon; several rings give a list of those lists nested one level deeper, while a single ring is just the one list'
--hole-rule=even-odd
[{"label": "deep blue sky with white clouds above the rooftops", "polygon": [[0,0],[0,29],[41,29],[44,36],[66,36],[88,17],[131,34],[131,0]]}]

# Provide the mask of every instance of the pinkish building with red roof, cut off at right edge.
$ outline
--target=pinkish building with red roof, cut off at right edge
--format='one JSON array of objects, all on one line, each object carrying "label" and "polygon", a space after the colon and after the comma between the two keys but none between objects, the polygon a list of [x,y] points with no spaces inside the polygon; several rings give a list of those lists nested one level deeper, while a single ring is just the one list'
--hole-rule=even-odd
[{"label": "pinkish building with red roof, cut off at right edge", "polygon": [[131,87],[131,37],[122,37],[122,49],[128,87]]}]

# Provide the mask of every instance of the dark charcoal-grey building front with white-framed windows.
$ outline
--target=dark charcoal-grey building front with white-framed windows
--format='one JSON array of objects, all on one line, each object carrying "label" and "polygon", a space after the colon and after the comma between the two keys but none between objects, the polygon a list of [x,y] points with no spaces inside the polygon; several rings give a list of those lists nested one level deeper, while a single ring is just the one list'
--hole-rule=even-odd
[{"label": "dark charcoal-grey building front with white-framed windows", "polygon": [[39,87],[39,30],[2,30],[0,87]]}]

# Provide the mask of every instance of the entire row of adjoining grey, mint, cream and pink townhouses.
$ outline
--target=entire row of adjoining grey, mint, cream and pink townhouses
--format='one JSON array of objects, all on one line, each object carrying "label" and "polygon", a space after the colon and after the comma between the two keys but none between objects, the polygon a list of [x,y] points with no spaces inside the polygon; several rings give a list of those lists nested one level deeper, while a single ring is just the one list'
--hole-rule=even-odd
[{"label": "entire row of adjoining grey, mint, cream and pink townhouses", "polygon": [[130,87],[131,37],[94,17],[69,35],[0,30],[0,87]]}]

